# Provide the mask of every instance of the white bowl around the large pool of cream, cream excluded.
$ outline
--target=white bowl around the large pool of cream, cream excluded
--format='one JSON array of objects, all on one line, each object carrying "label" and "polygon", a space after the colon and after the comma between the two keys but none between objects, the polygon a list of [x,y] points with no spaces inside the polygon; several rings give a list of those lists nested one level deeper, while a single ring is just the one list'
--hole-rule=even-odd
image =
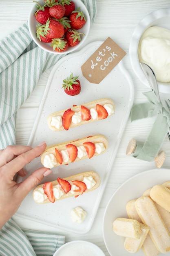
[{"label": "white bowl around the large pool of cream, cream excluded", "polygon": [[[145,16],[135,28],[130,40],[129,55],[132,68],[140,81],[148,87],[150,86],[143,70],[141,69],[137,49],[141,35],[146,29],[152,26],[159,26],[170,29],[170,8],[159,9]],[[158,87],[159,92],[170,93],[170,83],[158,82]]]}]

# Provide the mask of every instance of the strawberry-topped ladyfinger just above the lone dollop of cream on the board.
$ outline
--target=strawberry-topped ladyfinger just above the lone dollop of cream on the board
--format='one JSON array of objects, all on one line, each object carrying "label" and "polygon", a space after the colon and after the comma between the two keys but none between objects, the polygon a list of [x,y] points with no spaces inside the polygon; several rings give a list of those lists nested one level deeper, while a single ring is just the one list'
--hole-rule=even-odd
[{"label": "strawberry-topped ladyfinger just above the lone dollop of cream on the board", "polygon": [[46,182],[35,187],[33,199],[38,204],[54,203],[83,193],[91,192],[100,185],[100,177],[95,171],[87,171],[66,178]]}]

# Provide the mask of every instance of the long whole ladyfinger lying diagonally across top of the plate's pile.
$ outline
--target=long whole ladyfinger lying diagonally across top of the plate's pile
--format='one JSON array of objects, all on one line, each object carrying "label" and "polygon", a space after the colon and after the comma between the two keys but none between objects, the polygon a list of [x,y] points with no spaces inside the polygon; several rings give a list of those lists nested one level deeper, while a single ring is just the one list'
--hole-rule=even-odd
[{"label": "long whole ladyfinger lying diagonally across top of the plate's pile", "polygon": [[158,251],[162,253],[169,252],[170,233],[152,199],[147,196],[142,196],[136,200],[135,207],[142,222],[150,228],[150,237]]}]

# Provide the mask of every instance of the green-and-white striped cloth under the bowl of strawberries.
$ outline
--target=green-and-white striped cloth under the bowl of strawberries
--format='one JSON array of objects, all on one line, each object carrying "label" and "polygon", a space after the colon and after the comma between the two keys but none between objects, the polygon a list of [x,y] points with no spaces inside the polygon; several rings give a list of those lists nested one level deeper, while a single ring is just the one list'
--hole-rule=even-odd
[{"label": "green-and-white striped cloth under the bowl of strawberries", "polygon": [[[96,1],[82,0],[91,17],[96,16]],[[41,74],[65,54],[51,54],[38,47],[27,23],[0,41],[0,149],[15,145],[17,110],[35,89]]]}]

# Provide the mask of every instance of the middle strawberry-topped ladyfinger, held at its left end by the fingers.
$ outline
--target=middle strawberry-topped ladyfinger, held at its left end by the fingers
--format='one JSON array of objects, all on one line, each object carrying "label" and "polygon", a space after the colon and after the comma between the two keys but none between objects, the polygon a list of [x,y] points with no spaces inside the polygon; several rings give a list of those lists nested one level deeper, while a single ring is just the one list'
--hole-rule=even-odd
[{"label": "middle strawberry-topped ladyfinger, held at its left end by the fingers", "polygon": [[101,155],[108,149],[108,140],[104,135],[94,135],[47,146],[41,154],[44,167],[53,168],[85,158]]}]

